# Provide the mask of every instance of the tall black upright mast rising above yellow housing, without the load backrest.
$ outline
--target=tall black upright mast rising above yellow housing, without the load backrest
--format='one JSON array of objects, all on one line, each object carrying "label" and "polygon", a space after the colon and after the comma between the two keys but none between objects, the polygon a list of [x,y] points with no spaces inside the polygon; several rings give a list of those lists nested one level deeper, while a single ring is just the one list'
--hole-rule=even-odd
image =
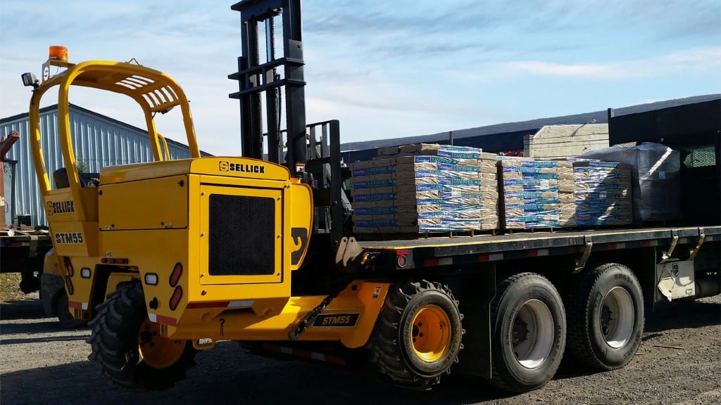
[{"label": "tall black upright mast rising above yellow housing, without the load backrest", "polygon": [[[262,93],[265,92],[265,125],[268,161],[285,164],[291,173],[306,164],[306,104],[303,77],[303,40],[300,0],[244,0],[231,9],[241,13],[242,55],[238,72],[229,75],[239,84],[230,94],[240,100],[242,155],[263,159]],[[275,23],[282,21],[283,54],[276,58]],[[265,35],[260,35],[260,29]],[[265,45],[265,50],[261,48]],[[261,56],[264,55],[264,58]],[[283,161],[280,131],[280,89],[285,87],[288,149]]]}]

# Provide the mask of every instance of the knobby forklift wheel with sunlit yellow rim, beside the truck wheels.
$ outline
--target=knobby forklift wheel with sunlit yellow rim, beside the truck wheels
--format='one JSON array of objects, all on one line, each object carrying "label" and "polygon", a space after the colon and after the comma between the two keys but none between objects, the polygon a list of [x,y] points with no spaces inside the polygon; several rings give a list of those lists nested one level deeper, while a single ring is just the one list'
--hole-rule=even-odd
[{"label": "knobby forklift wheel with sunlit yellow rim, beside the truck wheels", "polygon": [[398,383],[438,383],[458,361],[462,317],[451,290],[440,284],[393,285],[367,344],[371,361]]}]

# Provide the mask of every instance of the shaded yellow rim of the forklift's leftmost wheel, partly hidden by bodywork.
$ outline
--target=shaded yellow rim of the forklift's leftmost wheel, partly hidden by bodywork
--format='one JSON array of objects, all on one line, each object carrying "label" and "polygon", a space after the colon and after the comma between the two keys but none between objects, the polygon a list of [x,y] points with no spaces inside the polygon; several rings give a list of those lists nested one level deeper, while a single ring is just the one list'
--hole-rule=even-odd
[{"label": "shaded yellow rim of the forklift's leftmost wheel, partly hidden by bodywork", "polygon": [[151,368],[163,369],[174,365],[185,350],[185,340],[172,340],[160,336],[160,326],[149,319],[138,331],[138,352]]}]

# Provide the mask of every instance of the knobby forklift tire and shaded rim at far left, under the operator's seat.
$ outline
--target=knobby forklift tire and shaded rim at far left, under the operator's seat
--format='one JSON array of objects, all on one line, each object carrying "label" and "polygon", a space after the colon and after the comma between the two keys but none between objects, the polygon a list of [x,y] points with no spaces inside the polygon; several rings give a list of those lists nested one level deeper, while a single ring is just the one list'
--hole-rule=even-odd
[{"label": "knobby forklift tire and shaded rim at far left, under the operator's seat", "polygon": [[193,342],[162,337],[159,325],[149,321],[139,282],[110,293],[89,324],[92,354],[88,358],[123,388],[170,388],[195,365]]}]

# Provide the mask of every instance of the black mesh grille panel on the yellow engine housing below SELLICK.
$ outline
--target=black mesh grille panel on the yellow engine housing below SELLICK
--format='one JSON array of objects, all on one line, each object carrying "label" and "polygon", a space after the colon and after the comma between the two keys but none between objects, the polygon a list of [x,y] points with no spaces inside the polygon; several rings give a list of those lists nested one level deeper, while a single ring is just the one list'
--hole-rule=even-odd
[{"label": "black mesh grille panel on the yellow engine housing below SELLICK", "polygon": [[210,275],[273,275],[275,200],[265,197],[210,197]]}]

